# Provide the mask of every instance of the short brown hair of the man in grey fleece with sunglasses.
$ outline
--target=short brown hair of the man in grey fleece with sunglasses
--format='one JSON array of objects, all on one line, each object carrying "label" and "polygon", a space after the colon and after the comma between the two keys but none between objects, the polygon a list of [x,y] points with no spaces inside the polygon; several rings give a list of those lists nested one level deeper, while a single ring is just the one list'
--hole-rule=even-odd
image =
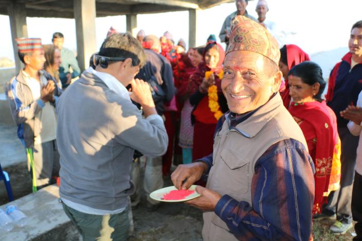
[{"label": "short brown hair of the man in grey fleece with sunglasses", "polygon": [[[147,57],[141,43],[129,33],[115,33],[104,40],[98,55],[110,58],[131,58],[140,67],[146,64]],[[112,62],[108,62],[111,64]]]}]

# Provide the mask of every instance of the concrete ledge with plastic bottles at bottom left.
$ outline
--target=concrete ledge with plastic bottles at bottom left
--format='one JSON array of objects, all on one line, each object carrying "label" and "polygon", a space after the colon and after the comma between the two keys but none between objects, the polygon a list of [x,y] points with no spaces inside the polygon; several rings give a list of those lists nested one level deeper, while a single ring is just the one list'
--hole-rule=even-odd
[{"label": "concrete ledge with plastic bottles at bottom left", "polygon": [[[32,240],[35,238],[39,240],[39,237],[48,231],[64,227],[64,225],[67,226],[70,219],[64,213],[62,203],[58,202],[58,198],[59,188],[56,185],[51,185],[37,193],[29,194],[0,206],[1,209],[5,210],[7,205],[16,205],[28,216],[25,227],[15,227],[11,232],[2,232],[1,240]],[[63,234],[65,236],[65,233]]]}]

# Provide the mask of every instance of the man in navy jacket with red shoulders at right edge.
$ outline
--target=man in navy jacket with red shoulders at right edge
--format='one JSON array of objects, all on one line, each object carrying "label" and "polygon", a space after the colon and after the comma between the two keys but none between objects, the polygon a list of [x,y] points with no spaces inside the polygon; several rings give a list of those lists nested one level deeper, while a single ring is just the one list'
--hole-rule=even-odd
[{"label": "man in navy jacket with red shoulders at right edge", "polygon": [[349,49],[342,61],[334,66],[325,96],[337,116],[341,139],[340,189],[330,194],[330,201],[320,216],[337,215],[337,221],[330,228],[333,233],[346,233],[352,228],[351,201],[358,137],[349,132],[348,120],[343,119],[340,112],[348,105],[356,105],[358,94],[362,90],[362,21],[352,26]]}]

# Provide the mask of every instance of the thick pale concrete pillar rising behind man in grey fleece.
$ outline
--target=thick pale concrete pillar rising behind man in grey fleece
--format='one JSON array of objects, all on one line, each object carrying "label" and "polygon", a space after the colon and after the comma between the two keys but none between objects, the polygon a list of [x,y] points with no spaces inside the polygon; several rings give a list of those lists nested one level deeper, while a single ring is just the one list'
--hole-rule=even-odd
[{"label": "thick pale concrete pillar rising behind man in grey fleece", "polygon": [[89,67],[89,59],[97,51],[96,0],[74,0],[77,32],[77,59],[81,71]]}]

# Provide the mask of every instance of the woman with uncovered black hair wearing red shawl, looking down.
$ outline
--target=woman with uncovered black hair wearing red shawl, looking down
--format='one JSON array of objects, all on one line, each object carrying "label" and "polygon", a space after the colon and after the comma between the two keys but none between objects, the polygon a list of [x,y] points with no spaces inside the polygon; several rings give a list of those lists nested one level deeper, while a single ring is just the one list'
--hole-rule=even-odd
[{"label": "woman with uncovered black hair wearing red shawl, looking down", "polygon": [[321,68],[310,61],[294,66],[288,73],[292,103],[288,110],[306,139],[315,166],[313,214],[320,214],[328,194],[338,188],[340,140],[333,110],[321,99],[325,88]]}]

